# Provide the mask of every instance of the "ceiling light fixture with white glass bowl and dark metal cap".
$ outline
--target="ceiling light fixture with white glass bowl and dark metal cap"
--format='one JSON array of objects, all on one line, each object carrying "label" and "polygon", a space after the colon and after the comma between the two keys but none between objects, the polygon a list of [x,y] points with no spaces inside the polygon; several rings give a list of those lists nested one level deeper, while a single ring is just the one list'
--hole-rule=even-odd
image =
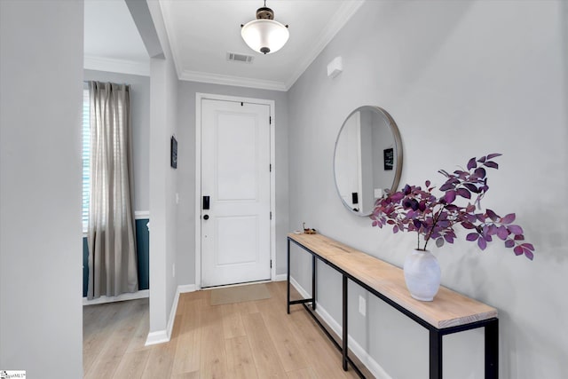
[{"label": "ceiling light fixture with white glass bowl and dark metal cap", "polygon": [[290,36],[288,25],[284,26],[274,20],[274,12],[264,6],[256,10],[256,20],[241,25],[241,36],[254,51],[269,54],[279,51]]}]

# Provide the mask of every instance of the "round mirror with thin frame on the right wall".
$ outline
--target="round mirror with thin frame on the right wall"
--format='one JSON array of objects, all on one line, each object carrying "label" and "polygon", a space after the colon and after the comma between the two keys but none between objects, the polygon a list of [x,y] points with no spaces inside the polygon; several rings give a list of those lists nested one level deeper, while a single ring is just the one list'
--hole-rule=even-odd
[{"label": "round mirror with thin frame on the right wall", "polygon": [[359,107],[335,141],[335,188],[343,205],[358,216],[373,213],[376,199],[397,191],[402,141],[396,122],[381,107]]}]

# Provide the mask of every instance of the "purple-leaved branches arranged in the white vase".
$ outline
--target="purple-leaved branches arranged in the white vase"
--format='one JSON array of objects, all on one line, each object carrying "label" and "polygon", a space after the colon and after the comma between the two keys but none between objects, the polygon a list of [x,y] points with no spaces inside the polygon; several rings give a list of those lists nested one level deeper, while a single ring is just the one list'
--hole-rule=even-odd
[{"label": "purple-leaved branches arranged in the white vase", "polygon": [[[430,180],[421,186],[406,185],[402,190],[389,193],[375,202],[375,209],[370,216],[373,226],[383,228],[391,225],[393,233],[416,232],[417,249],[425,250],[430,240],[436,241],[441,248],[445,243],[454,243],[457,238],[455,225],[470,230],[466,241],[477,242],[477,247],[484,250],[493,237],[504,242],[504,246],[513,249],[517,255],[524,255],[533,260],[534,247],[525,242],[523,228],[514,225],[516,215],[509,213],[499,216],[492,209],[481,209],[481,200],[489,190],[487,170],[499,169],[493,158],[501,154],[488,154],[479,159],[471,158],[466,170],[446,170],[438,172],[446,177],[446,182],[439,187],[439,197],[433,194],[435,189]],[[473,198],[473,199],[472,199]],[[459,200],[467,200],[466,205],[459,205]],[[423,245],[421,247],[422,236]]]}]

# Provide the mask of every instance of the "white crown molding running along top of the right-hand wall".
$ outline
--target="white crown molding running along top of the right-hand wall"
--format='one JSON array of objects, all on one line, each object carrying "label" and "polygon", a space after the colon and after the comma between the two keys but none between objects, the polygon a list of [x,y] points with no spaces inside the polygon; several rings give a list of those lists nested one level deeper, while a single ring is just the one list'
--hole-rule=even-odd
[{"label": "white crown molding running along top of the right-hand wall", "polygon": [[318,58],[321,51],[326,48],[327,43],[330,43],[335,35],[345,26],[347,21],[351,20],[353,14],[359,10],[365,1],[366,0],[351,0],[346,1],[341,5],[339,10],[335,12],[334,17],[329,20],[326,28],[319,35],[319,38],[316,39],[316,42],[313,44],[314,49],[310,51],[310,55],[304,59],[304,62],[300,64],[300,67],[298,67],[294,75],[292,75],[286,83],[286,91],[288,91],[290,87],[296,83],[300,76],[304,74],[304,71],[310,67],[312,62]]}]

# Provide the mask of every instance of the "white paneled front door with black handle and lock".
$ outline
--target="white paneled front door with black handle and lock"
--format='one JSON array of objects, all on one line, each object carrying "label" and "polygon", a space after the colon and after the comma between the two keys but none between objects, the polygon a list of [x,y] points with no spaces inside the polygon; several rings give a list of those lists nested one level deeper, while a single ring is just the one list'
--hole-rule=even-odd
[{"label": "white paneled front door with black handle and lock", "polygon": [[201,100],[203,288],[271,279],[269,117],[267,105]]}]

